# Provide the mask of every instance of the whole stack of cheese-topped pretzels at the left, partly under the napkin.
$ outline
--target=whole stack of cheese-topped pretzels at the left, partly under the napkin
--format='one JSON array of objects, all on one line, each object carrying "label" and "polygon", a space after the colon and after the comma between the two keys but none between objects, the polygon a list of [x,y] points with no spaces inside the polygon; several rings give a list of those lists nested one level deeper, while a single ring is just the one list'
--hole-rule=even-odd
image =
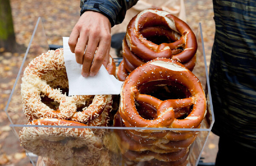
[{"label": "whole stack of cheese-topped pretzels at the left, partly under the napkin", "polygon": [[[107,66],[109,74],[115,75],[115,68],[110,57]],[[23,127],[19,135],[21,145],[44,157],[45,161],[54,160],[55,166],[67,162],[93,166],[107,161],[107,165],[113,165],[117,161],[112,160],[115,157],[111,157],[110,151],[103,145],[107,134],[105,129],[69,127],[109,126],[112,96],[67,96],[67,93],[63,49],[49,50],[29,63],[21,84],[23,111],[28,125],[66,127]],[[104,154],[109,157],[102,159]]]}]

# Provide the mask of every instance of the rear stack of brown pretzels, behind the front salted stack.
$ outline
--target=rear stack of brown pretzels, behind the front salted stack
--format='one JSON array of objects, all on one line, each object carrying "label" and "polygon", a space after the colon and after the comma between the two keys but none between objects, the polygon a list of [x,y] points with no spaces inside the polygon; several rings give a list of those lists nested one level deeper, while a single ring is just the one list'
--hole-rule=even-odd
[{"label": "rear stack of brown pretzels, behind the front salted stack", "polygon": [[177,60],[190,71],[195,66],[195,34],[185,22],[160,9],[147,9],[133,17],[122,44],[123,60],[117,72],[122,81],[138,66],[157,57]]}]

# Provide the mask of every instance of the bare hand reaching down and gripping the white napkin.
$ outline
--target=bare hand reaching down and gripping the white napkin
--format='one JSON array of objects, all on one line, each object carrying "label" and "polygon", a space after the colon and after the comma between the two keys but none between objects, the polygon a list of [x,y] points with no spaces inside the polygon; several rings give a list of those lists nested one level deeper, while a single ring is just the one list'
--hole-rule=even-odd
[{"label": "bare hand reaching down and gripping the white napkin", "polygon": [[110,32],[108,17],[96,11],[85,11],[74,26],[68,44],[76,55],[76,62],[83,65],[83,77],[96,75],[102,64],[107,66],[111,48]]}]

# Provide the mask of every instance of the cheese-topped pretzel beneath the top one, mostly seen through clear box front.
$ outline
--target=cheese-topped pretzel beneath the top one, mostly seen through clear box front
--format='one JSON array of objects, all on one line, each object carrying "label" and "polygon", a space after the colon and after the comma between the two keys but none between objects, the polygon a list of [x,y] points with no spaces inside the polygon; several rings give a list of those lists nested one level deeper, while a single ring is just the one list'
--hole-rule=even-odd
[{"label": "cheese-topped pretzel beneath the top one, mostly seen through clear box front", "polygon": [[[84,148],[88,153],[96,153],[102,149],[102,138],[91,129],[29,127],[29,125],[49,126],[87,126],[83,123],[56,118],[40,118],[23,127],[19,138],[21,145],[36,155],[68,159],[75,155],[75,149]],[[43,150],[47,150],[47,153]],[[88,156],[88,153],[76,153],[76,156]]]}]

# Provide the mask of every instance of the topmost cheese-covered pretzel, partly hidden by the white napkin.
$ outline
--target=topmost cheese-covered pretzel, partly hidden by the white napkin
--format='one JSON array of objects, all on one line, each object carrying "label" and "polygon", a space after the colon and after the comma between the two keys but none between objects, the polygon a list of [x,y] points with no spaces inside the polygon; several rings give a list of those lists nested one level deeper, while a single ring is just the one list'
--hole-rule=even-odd
[{"label": "topmost cheese-covered pretzel, partly hidden by the white napkin", "polygon": [[[113,59],[108,66],[113,73]],[[64,81],[66,80],[66,81]],[[58,84],[54,83],[57,82]],[[57,87],[51,87],[51,85]],[[111,95],[74,95],[68,97],[59,87],[68,88],[65,72],[63,49],[49,50],[32,60],[26,67],[21,84],[23,111],[29,121],[40,117],[60,118],[64,120],[86,123],[98,117],[104,110]],[[41,96],[47,96],[59,103],[58,108],[52,109],[41,101]],[[90,106],[82,112],[76,112],[78,106],[84,106],[92,100]]]}]

